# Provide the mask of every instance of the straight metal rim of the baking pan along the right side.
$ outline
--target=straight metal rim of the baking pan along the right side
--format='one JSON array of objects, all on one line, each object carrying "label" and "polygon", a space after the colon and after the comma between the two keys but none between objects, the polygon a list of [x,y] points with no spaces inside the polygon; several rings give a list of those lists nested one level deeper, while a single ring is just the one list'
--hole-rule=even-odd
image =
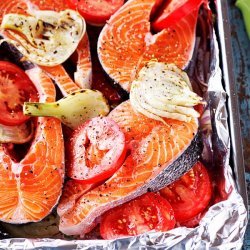
[{"label": "straight metal rim of the baking pan along the right side", "polygon": [[244,200],[245,206],[248,205],[245,164],[243,154],[243,142],[241,137],[240,112],[237,96],[237,88],[234,77],[231,28],[229,21],[229,2],[217,1],[217,30],[219,36],[219,46],[221,52],[223,82],[228,95],[228,123],[231,137],[231,166],[235,174],[237,188]]}]

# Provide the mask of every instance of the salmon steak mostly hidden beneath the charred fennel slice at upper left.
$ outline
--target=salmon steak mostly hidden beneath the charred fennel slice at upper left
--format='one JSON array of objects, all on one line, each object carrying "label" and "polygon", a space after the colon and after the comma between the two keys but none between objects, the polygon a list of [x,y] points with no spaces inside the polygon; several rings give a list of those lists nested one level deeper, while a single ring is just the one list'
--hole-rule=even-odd
[{"label": "salmon steak mostly hidden beneath the charred fennel slice at upper left", "polygon": [[[64,0],[10,0],[0,3],[0,23],[5,14],[29,14],[29,9],[62,11],[68,8]],[[8,31],[2,32],[3,36],[10,37]],[[11,38],[11,37],[10,37]],[[70,78],[62,65],[54,67],[41,67],[58,85],[64,96],[81,88],[90,88],[92,82],[92,64],[89,40],[87,34],[82,38],[76,49],[77,61],[74,81]]]}]

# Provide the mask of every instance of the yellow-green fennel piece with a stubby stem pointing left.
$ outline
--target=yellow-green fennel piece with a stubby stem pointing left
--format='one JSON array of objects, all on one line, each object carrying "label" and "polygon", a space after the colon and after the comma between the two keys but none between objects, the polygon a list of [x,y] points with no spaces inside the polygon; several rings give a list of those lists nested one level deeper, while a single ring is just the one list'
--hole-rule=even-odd
[{"label": "yellow-green fennel piece with a stubby stem pointing left", "polygon": [[57,102],[25,102],[23,112],[29,116],[56,117],[68,127],[75,129],[88,119],[107,115],[109,106],[101,92],[84,89]]}]

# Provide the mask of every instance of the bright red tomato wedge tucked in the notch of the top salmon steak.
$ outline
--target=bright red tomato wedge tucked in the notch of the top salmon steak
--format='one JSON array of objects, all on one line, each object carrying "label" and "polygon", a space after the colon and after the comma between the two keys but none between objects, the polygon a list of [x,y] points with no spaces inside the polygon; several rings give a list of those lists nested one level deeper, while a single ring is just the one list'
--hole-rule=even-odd
[{"label": "bright red tomato wedge tucked in the notch of the top salmon steak", "polygon": [[180,19],[199,10],[202,3],[207,0],[171,0],[166,1],[161,7],[162,11],[158,17],[153,21],[152,27],[154,31],[161,31],[172,24],[176,24]]}]

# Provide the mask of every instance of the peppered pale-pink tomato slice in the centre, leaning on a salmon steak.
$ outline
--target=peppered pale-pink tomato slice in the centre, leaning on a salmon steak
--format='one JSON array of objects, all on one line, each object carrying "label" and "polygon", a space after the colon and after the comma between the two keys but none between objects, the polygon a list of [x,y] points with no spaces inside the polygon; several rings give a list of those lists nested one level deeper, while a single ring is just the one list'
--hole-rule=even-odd
[{"label": "peppered pale-pink tomato slice in the centre, leaning on a salmon steak", "polygon": [[126,156],[125,136],[107,117],[96,117],[80,126],[70,140],[68,176],[95,183],[112,176]]}]

